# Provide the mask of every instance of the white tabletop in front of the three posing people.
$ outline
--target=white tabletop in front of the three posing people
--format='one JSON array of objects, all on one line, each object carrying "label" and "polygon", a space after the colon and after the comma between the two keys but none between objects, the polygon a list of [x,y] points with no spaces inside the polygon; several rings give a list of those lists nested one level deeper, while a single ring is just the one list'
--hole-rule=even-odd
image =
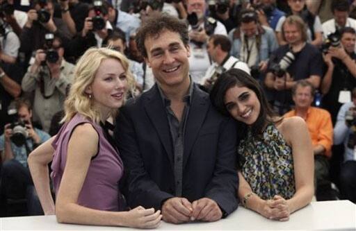
[{"label": "white tabletop in front of the three posing people", "polygon": [[[0,230],[133,229],[60,224],[56,222],[56,216],[17,216],[1,218]],[[291,214],[289,221],[271,221],[240,206],[227,219],[217,222],[180,225],[162,222],[158,230],[356,230],[356,205],[349,200],[312,202]]]}]

